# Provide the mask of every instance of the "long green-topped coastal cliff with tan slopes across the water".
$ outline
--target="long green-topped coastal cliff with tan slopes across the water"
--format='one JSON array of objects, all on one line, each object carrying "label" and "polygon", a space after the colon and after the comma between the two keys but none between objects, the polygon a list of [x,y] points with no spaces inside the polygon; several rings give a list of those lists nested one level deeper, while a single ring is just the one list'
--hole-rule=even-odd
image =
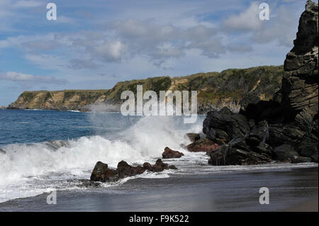
[{"label": "long green-topped coastal cliff with tan slopes across the water", "polygon": [[191,74],[185,77],[153,77],[120,81],[112,89],[24,91],[8,108],[45,109],[59,111],[90,111],[91,106],[101,103],[113,106],[118,111],[123,103],[121,93],[125,90],[136,94],[136,86],[143,85],[143,91],[198,91],[198,113],[212,108],[228,106],[239,111],[240,102],[273,98],[279,91],[284,75],[283,66],[251,67],[248,69],[227,69],[223,72]]}]

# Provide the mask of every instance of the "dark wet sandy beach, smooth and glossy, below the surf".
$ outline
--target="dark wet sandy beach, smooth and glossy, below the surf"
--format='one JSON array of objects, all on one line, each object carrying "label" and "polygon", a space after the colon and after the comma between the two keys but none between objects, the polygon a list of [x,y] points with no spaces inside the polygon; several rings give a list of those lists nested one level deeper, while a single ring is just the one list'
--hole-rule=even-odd
[{"label": "dark wet sandy beach, smooth and glossy, below the surf", "polygon": [[[269,188],[269,205],[259,188]],[[318,167],[133,179],[120,186],[57,191],[0,203],[1,211],[318,211]],[[317,204],[315,204],[317,203]]]}]

